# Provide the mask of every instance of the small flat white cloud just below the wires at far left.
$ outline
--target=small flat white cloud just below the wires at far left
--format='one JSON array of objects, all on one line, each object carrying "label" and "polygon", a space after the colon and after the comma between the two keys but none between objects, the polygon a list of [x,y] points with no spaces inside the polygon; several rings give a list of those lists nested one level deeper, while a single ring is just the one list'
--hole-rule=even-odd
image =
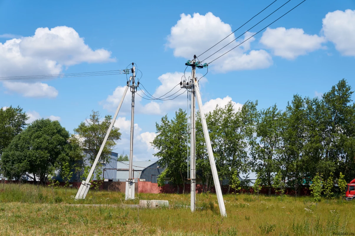
[{"label": "small flat white cloud just below the wires at far left", "polygon": [[58,90],[56,90],[55,87],[41,82],[26,83],[5,81],[3,82],[3,86],[9,91],[22,94],[24,97],[55,98],[58,95]]}]

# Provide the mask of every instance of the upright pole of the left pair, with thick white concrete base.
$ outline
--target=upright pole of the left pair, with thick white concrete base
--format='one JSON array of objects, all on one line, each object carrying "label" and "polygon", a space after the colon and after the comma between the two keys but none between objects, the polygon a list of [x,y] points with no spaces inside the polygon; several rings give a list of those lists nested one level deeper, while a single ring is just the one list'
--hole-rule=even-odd
[{"label": "upright pole of the left pair, with thick white concrete base", "polygon": [[137,92],[137,86],[135,85],[135,77],[136,77],[136,68],[134,64],[132,63],[132,86],[131,87],[131,92],[132,92],[132,110],[131,110],[131,139],[130,139],[130,165],[129,165],[129,171],[128,171],[128,179],[126,179],[126,195],[125,199],[134,199],[134,189],[135,189],[135,183],[133,182],[134,176],[133,176],[133,171],[132,171],[132,165],[133,165],[133,132],[134,132],[134,96],[135,92]]}]

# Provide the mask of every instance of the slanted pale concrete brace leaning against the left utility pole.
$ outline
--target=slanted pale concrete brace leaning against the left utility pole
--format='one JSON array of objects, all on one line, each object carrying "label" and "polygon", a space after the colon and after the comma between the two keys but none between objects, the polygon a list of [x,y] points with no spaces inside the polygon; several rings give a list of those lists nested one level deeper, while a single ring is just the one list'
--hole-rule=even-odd
[{"label": "slanted pale concrete brace leaning against the left utility pole", "polygon": [[[131,82],[131,80],[132,80],[132,76],[130,77],[129,83]],[[128,83],[128,84],[129,84],[129,83]],[[102,150],[104,149],[104,146],[105,146],[105,144],[106,144],[106,141],[107,141],[107,139],[108,139],[108,137],[109,137],[109,135],[110,135],[111,129],[112,129],[112,127],[113,127],[113,125],[114,125],[114,123],[115,123],[115,120],[116,120],[116,118],[117,118],[118,112],[120,111],[120,108],[121,108],[121,106],[122,106],[122,102],[123,102],[123,100],[125,99],[125,96],[126,96],[128,87],[129,87],[129,86],[127,86],[127,87],[125,88],[125,91],[123,92],[121,101],[120,101],[120,103],[118,104],[118,107],[117,107],[117,109],[116,109],[115,116],[113,117],[113,119],[112,119],[112,121],[111,121],[111,124],[110,124],[110,127],[109,127],[109,129],[107,130],[107,133],[106,133],[106,135],[105,135],[104,141],[102,142],[102,145],[101,145],[100,150],[99,150],[99,152],[98,152],[98,154],[97,154],[97,156],[96,156],[96,158],[95,158],[95,161],[94,161],[94,163],[93,163],[93,165],[92,165],[92,167],[91,167],[91,170],[90,170],[90,172],[89,172],[89,175],[87,176],[86,181],[83,181],[83,182],[81,183],[81,185],[80,185],[80,187],[79,187],[79,190],[78,190],[78,192],[77,192],[77,194],[76,194],[76,196],[75,196],[75,199],[85,199],[86,194],[87,194],[88,191],[89,191],[89,188],[90,188],[90,185],[91,185],[91,183],[90,183],[91,176],[92,176],[92,174],[94,173],[94,170],[95,170],[95,167],[96,167],[96,165],[97,165],[97,162],[98,162],[99,159],[100,159]]]}]

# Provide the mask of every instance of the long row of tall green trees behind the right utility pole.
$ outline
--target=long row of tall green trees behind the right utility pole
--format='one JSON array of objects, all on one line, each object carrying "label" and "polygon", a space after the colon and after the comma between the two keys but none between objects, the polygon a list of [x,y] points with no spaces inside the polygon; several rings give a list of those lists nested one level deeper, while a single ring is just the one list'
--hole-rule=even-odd
[{"label": "long row of tall green trees behind the right utility pole", "polygon": [[[355,178],[352,93],[343,79],[321,98],[294,95],[284,110],[276,104],[257,109],[258,101],[247,101],[238,110],[232,102],[217,105],[206,114],[206,122],[220,181],[229,180],[229,186],[237,188],[242,184],[239,174],[257,172],[269,194],[277,180],[296,193],[316,176],[332,180],[334,176],[332,187],[341,175],[351,181]],[[198,112],[196,117],[196,175],[208,191],[213,179]],[[171,183],[184,185],[190,135],[186,112],[179,109],[171,120],[162,117],[156,130],[152,144],[160,164],[167,167],[164,175]]]}]

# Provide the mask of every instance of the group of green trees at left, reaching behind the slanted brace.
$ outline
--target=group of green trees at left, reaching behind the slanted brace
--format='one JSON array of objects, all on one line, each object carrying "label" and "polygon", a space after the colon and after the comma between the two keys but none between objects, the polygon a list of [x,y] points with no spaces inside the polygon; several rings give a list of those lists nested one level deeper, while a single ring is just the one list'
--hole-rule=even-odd
[{"label": "group of green trees at left, reaching behind the slanted brace", "polygon": [[[0,109],[0,174],[7,179],[30,179],[44,184],[55,177],[67,184],[72,179],[86,179],[102,145],[112,117],[102,118],[92,111],[70,134],[59,121],[29,119],[21,107]],[[111,160],[111,151],[121,137],[119,128],[113,127],[100,156],[101,162]],[[120,155],[120,161],[128,160]],[[85,163],[91,165],[85,165]],[[97,178],[102,176],[98,163]]]}]

